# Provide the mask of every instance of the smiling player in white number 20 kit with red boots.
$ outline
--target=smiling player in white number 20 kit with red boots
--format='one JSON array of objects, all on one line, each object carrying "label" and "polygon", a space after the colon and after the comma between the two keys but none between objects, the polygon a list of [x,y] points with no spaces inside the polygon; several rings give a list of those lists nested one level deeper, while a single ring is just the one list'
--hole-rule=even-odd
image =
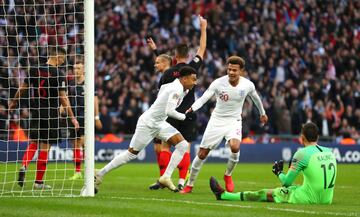
[{"label": "smiling player in white number 20 kit with red boots", "polygon": [[260,121],[265,124],[268,120],[254,84],[241,76],[244,70],[245,61],[241,57],[229,57],[227,59],[227,75],[213,81],[205,93],[188,109],[187,113],[197,111],[212,96],[216,96],[216,106],[206,126],[200,149],[192,162],[189,181],[180,193],[192,192],[195,179],[210,150],[215,149],[223,138],[226,139],[231,149],[224,180],[227,191],[232,192],[234,190],[231,174],[240,156],[241,113],[246,96],[249,95],[258,108]]}]

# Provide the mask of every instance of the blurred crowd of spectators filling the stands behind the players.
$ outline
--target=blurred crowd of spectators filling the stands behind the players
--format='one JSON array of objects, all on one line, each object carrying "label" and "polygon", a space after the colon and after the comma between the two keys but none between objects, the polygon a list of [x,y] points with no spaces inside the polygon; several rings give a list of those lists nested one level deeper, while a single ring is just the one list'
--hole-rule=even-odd
[{"label": "blurred crowd of spectators filling the stands behind the players", "polygon": [[[14,7],[10,12],[16,16],[4,18],[10,7],[0,8],[0,35],[7,36],[0,37],[1,116],[6,115],[7,88],[15,89],[21,82],[18,78],[26,76],[17,67],[20,56],[36,56],[39,50],[31,43],[46,46],[55,40],[67,44],[69,65],[71,55],[83,52],[83,16],[73,13],[81,11],[81,4],[56,9],[63,16],[45,19],[52,20],[53,26],[41,23],[46,17],[41,15],[54,10],[52,6],[28,12],[36,9],[37,16],[22,16],[31,9]],[[247,100],[245,135],[297,135],[303,123],[313,121],[322,136],[360,141],[359,9],[360,2],[351,0],[95,0],[95,83],[103,122],[99,133],[133,133],[138,117],[156,96],[161,74],[154,70],[154,54],[145,38],[152,36],[159,52],[170,55],[176,44],[187,43],[190,59],[199,45],[200,14],[208,20],[208,29],[196,94],[201,96],[214,79],[226,74],[227,57],[243,57],[247,76],[255,83],[270,118],[266,126],[260,126],[259,114]],[[5,28],[5,23],[14,24],[18,17],[38,27]],[[67,25],[57,24],[62,21]],[[6,67],[9,64],[14,70]],[[71,67],[68,71],[71,74]],[[9,81],[8,77],[17,79]],[[198,112],[199,134],[214,103]]]}]

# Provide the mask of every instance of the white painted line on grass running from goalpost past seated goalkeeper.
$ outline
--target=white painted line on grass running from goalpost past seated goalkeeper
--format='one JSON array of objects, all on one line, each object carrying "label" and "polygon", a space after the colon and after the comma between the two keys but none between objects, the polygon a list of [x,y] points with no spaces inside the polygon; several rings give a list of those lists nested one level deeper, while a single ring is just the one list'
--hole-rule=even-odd
[{"label": "white painted line on grass running from goalpost past seated goalkeeper", "polygon": [[[256,209],[258,207],[250,206],[250,205],[238,205],[238,204],[226,204],[226,203],[204,203],[190,200],[173,200],[173,199],[164,199],[164,198],[146,198],[146,197],[101,197],[104,199],[117,199],[117,200],[142,200],[142,201],[159,201],[159,202],[173,202],[173,203],[185,203],[185,204],[196,204],[196,205],[205,205],[205,206],[222,206],[222,207],[236,207],[236,208],[248,208],[248,209]],[[264,207],[261,207],[263,209]],[[289,209],[289,208],[276,208],[276,207],[265,207],[268,210],[274,211],[283,211],[283,212],[296,212],[296,213],[304,213],[304,214],[313,214],[313,215],[331,215],[331,216],[358,216],[357,213],[343,213],[343,212],[316,212],[316,211],[306,211],[306,210],[298,210],[298,209]]]}]

